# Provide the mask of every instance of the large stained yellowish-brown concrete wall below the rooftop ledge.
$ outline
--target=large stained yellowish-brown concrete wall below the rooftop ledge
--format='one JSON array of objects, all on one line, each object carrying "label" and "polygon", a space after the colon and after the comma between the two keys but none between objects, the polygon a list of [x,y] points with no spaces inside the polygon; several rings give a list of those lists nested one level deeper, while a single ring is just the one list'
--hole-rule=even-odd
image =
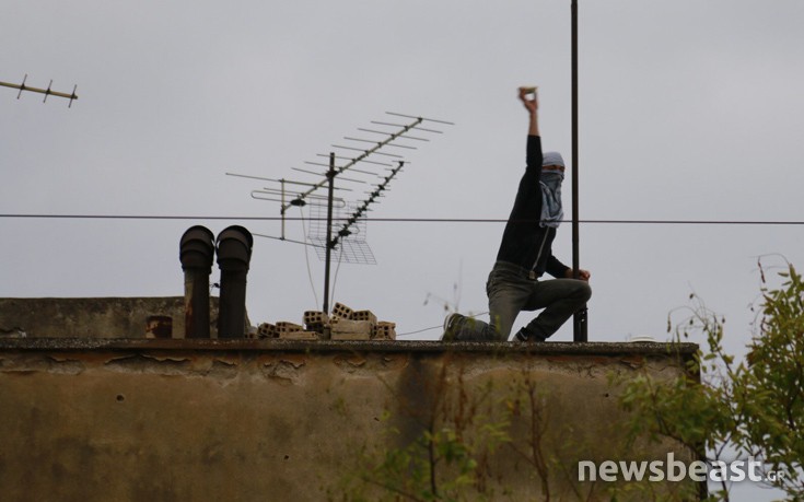
[{"label": "large stained yellowish-brown concrete wall below the rooftop ledge", "polygon": [[[477,445],[468,499],[609,500],[572,469],[622,458],[608,376],[638,371],[681,367],[657,343],[0,339],[0,498],[350,500],[365,458],[447,428]],[[481,447],[487,425],[512,441]],[[639,457],[668,451],[690,457]]]}]

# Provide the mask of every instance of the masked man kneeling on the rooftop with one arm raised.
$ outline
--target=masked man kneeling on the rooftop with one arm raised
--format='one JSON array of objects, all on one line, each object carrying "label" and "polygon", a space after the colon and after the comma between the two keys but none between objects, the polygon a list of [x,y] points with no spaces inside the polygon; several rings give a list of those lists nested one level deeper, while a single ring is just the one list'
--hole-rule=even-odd
[{"label": "masked man kneeling on the rooftop with one arm raised", "polygon": [[[545,341],[592,295],[590,272],[579,270],[573,279],[574,271],[552,256],[563,218],[564,162],[558,152],[541,152],[535,89],[520,87],[520,100],[529,115],[526,168],[486,283],[490,324],[451,314],[444,320],[444,341],[506,341],[520,312],[541,308],[514,340]],[[556,279],[541,280],[545,272]]]}]

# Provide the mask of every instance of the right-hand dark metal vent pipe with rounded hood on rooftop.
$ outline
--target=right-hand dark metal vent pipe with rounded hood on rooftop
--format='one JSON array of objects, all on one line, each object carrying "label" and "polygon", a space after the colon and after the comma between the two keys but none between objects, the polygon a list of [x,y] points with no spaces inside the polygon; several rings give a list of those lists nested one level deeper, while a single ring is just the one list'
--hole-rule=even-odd
[{"label": "right-hand dark metal vent pipe with rounded hood on rooftop", "polygon": [[221,269],[221,299],[218,338],[244,338],[246,334],[246,275],[254,237],[240,225],[218,234],[218,267]]}]

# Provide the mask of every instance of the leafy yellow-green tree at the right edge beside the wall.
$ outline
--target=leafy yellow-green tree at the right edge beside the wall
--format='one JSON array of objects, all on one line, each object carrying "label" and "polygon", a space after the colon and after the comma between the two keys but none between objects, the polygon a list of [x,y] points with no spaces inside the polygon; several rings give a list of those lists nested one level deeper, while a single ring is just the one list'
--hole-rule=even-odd
[{"label": "leafy yellow-green tree at the right edge beside the wall", "polygon": [[[709,462],[727,460],[729,452],[753,457],[762,463],[764,483],[783,490],[789,501],[801,501],[804,282],[792,265],[780,276],[782,285],[771,289],[762,273],[759,319],[744,362],[735,363],[723,349],[724,319],[690,295],[691,314],[675,328],[675,338],[683,341],[702,332],[709,351],[699,351],[687,376],[631,381],[620,402],[632,411],[631,440],[642,434],[671,437],[706,452]],[[782,476],[768,476],[778,472]],[[710,500],[729,500],[725,482]]]}]

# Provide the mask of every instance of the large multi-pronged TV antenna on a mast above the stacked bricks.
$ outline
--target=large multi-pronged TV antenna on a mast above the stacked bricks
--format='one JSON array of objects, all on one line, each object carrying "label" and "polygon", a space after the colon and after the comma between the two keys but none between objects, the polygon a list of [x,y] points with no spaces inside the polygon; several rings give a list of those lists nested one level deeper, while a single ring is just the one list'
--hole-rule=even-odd
[{"label": "large multi-pronged TV antenna on a mast above the stacked bricks", "polygon": [[[386,112],[395,118],[387,120],[373,120],[371,128],[358,128],[369,136],[343,137],[347,144],[333,144],[334,149],[328,154],[318,153],[316,156],[325,157],[328,162],[305,161],[305,164],[326,167],[325,172],[311,171],[311,168],[291,167],[293,171],[315,176],[313,180],[298,180],[286,178],[267,178],[236,173],[226,173],[229,176],[238,176],[250,179],[269,182],[271,185],[261,189],[252,190],[252,198],[279,202],[281,214],[281,234],[279,237],[271,235],[254,234],[259,237],[276,238],[316,249],[319,259],[325,261],[324,271],[324,312],[329,312],[329,275],[331,268],[333,250],[340,249],[340,256],[347,262],[374,265],[376,260],[365,242],[365,215],[377,203],[380,198],[389,190],[391,182],[403,171],[408,161],[401,154],[404,151],[417,150],[413,142],[428,142],[428,135],[441,135],[443,131],[432,127],[453,126],[446,120],[424,118],[413,115]],[[433,124],[434,126],[430,126]],[[424,127],[427,126],[427,127]],[[389,151],[391,150],[391,151]],[[360,165],[360,167],[357,167]],[[365,165],[365,166],[364,166]],[[383,171],[378,173],[377,171]],[[349,172],[349,177],[342,174]],[[363,200],[347,201],[341,192],[353,192],[356,188],[336,186],[338,182],[368,185],[363,190]],[[336,191],[338,197],[336,197]],[[293,207],[311,207],[311,227],[305,242],[292,241],[286,237],[286,214]],[[326,217],[323,213],[326,208]],[[323,223],[326,222],[324,226]]]}]

